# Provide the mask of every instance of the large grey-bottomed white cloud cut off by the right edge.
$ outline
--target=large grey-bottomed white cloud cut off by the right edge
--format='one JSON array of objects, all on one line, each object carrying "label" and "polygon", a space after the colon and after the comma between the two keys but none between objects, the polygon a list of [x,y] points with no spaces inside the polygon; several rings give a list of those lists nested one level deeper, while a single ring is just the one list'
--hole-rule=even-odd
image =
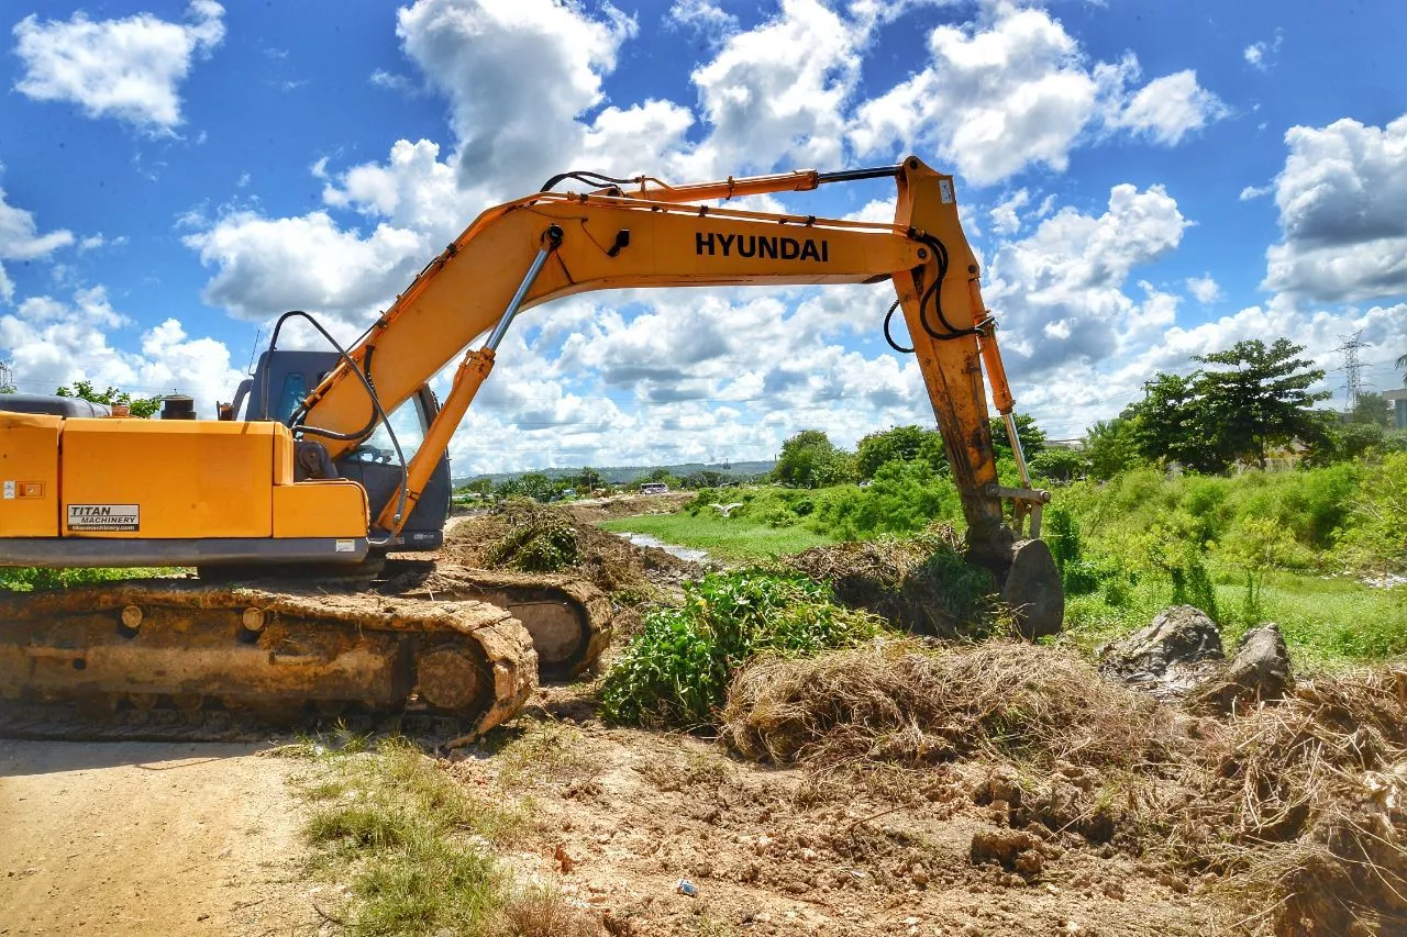
[{"label": "large grey-bottomed white cloud cut off by the right edge", "polygon": [[1280,243],[1268,290],[1324,302],[1407,294],[1407,115],[1386,127],[1292,127],[1275,180]]}]

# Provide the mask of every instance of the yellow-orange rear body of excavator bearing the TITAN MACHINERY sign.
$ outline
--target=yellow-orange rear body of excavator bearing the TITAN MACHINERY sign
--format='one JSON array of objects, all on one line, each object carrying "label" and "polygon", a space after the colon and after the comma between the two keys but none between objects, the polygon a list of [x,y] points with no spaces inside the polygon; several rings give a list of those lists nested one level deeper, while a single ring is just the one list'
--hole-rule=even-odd
[{"label": "yellow-orange rear body of excavator bearing the TITAN MACHINERY sign", "polygon": [[366,492],[294,483],[293,456],[274,422],[0,414],[0,530],[34,539],[37,564],[363,559]]}]

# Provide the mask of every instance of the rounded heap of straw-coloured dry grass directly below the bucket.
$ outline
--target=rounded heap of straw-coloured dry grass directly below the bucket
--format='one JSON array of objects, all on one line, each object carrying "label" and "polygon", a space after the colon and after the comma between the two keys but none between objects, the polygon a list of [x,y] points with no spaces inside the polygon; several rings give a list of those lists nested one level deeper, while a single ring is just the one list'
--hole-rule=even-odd
[{"label": "rounded heap of straw-coloured dry grass directly below the bucket", "polygon": [[775,763],[923,765],[989,754],[1027,764],[1162,760],[1169,719],[1074,654],[1020,642],[926,650],[879,642],[763,660],[733,681],[725,733]]}]

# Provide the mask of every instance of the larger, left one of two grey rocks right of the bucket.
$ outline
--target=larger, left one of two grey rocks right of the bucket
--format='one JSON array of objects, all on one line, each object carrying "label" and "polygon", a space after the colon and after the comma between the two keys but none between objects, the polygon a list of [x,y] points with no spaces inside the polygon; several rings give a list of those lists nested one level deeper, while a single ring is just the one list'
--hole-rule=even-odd
[{"label": "larger, left one of two grey rocks right of the bucket", "polygon": [[1110,647],[1099,670],[1157,696],[1183,696],[1224,658],[1216,622],[1190,605],[1173,605]]}]

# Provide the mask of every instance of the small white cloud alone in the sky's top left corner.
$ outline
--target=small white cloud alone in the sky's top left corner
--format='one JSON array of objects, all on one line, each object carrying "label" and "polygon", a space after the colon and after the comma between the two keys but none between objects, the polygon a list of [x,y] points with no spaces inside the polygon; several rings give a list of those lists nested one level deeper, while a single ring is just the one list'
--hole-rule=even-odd
[{"label": "small white cloud alone in the sky's top left corner", "polygon": [[24,62],[14,87],[37,101],[68,101],[89,117],[169,134],[183,122],[179,86],[191,60],[225,37],[224,13],[214,0],[191,0],[184,24],[151,13],[94,21],[79,11],[44,23],[30,14],[14,27]]}]

